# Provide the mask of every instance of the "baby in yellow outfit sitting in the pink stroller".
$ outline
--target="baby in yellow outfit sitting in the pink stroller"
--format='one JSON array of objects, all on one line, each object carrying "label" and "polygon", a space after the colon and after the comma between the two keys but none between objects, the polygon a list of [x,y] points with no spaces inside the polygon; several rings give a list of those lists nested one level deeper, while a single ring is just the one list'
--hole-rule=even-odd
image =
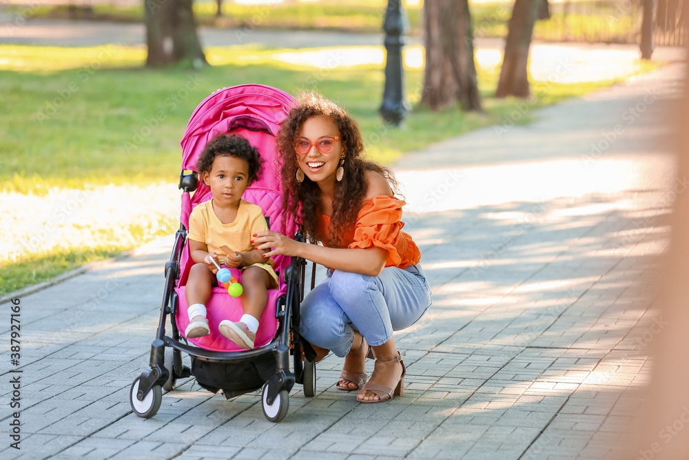
[{"label": "baby in yellow outfit sitting in the pink stroller", "polygon": [[[189,216],[189,250],[194,266],[189,272],[186,297],[189,326],[187,337],[210,333],[206,307],[212,288],[218,286],[218,271],[212,259],[227,268],[240,268],[244,314],[238,322],[227,319],[218,329],[240,348],[254,348],[258,318],[268,299],[268,289],[278,286],[278,275],[265,259],[265,250],[254,250],[252,235],[268,230],[259,206],[242,199],[244,190],[258,179],[263,159],[247,139],[220,134],[201,153],[196,168],[213,198],[200,203]],[[223,250],[229,246],[234,250]],[[227,252],[230,252],[229,254]]]}]

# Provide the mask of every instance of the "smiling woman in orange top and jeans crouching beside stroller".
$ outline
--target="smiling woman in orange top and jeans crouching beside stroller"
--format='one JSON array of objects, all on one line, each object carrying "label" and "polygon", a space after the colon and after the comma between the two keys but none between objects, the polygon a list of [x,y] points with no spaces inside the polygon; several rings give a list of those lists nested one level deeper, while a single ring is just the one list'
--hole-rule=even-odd
[{"label": "smiling woman in orange top and jeans crouching beside stroller", "polygon": [[[393,330],[411,326],[431,306],[431,290],[409,234],[401,231],[404,201],[387,168],[365,161],[359,128],[335,103],[307,93],[278,133],[285,218],[295,217],[311,243],[275,232],[254,245],[329,268],[302,302],[300,332],[314,345],[345,357],[338,389],[359,390],[358,401],[389,401],[404,392],[406,368]],[[366,382],[366,355],[376,365]]]}]

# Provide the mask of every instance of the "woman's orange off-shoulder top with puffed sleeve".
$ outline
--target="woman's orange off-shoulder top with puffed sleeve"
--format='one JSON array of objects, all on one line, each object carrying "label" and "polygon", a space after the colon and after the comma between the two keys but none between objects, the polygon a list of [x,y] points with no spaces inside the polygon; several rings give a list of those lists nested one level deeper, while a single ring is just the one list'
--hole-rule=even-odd
[{"label": "woman's orange off-shoulder top with puffed sleeve", "polygon": [[[354,228],[345,233],[347,248],[382,248],[387,250],[386,267],[407,268],[421,260],[421,251],[408,233],[402,232],[404,201],[388,195],[373,197],[359,211]],[[318,214],[318,239],[325,243],[330,217]],[[345,247],[345,246],[330,246]]]}]

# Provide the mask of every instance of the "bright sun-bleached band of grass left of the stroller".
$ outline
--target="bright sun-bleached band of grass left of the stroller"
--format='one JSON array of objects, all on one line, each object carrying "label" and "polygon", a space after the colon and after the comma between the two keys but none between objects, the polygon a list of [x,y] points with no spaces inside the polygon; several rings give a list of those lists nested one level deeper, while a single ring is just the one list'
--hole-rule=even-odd
[{"label": "bright sun-bleached band of grass left of the stroller", "polygon": [[[0,194],[0,263],[71,249],[132,248],[179,227],[180,194],[169,182],[52,188],[45,196]],[[21,229],[21,231],[19,231]]]}]

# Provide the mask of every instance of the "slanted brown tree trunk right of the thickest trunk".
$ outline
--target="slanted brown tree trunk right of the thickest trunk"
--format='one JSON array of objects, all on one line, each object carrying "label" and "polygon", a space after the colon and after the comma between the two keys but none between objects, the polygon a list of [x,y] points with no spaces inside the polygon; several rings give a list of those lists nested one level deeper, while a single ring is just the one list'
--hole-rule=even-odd
[{"label": "slanted brown tree trunk right of the thickest trunk", "polygon": [[531,94],[528,85],[528,49],[531,46],[531,34],[539,3],[539,0],[515,1],[495,97],[526,98]]}]

